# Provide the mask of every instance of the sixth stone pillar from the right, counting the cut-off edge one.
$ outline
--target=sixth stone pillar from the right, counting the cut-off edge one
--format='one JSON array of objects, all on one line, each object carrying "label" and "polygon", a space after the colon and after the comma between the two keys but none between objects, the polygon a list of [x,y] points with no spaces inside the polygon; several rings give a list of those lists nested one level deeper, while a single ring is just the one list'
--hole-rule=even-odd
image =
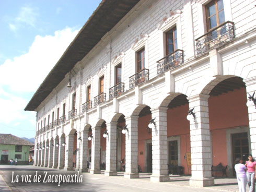
[{"label": "sixth stone pillar from the right, counting the cut-off edge one", "polygon": [[91,174],[100,173],[100,129],[101,127],[92,128],[91,139]]}]

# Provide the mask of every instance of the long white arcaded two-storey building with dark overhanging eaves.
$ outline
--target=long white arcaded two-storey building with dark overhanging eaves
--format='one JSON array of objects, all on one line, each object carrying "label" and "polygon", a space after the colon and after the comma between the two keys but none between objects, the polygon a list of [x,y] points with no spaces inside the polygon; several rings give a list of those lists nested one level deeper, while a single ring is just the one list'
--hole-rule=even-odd
[{"label": "long white arcaded two-storey building with dark overhanging eaves", "polygon": [[214,185],[219,163],[232,176],[236,158],[256,157],[255,5],[102,1],[25,109],[37,111],[34,164],[125,165],[124,178],[152,182],[182,166],[191,186]]}]

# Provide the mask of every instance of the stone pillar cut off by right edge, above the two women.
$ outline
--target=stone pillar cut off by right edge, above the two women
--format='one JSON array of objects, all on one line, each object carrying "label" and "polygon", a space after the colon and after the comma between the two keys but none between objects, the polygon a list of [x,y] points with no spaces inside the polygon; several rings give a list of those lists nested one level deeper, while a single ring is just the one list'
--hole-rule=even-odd
[{"label": "stone pillar cut off by right edge, above the two women", "polygon": [[[243,80],[246,83],[247,101],[249,100],[249,94],[252,96],[256,92],[256,78],[249,78]],[[256,98],[256,93],[254,94]],[[250,101],[251,106],[248,107],[248,117],[249,117],[249,128],[251,137],[251,154],[253,158],[256,158],[256,107],[252,101]]]}]

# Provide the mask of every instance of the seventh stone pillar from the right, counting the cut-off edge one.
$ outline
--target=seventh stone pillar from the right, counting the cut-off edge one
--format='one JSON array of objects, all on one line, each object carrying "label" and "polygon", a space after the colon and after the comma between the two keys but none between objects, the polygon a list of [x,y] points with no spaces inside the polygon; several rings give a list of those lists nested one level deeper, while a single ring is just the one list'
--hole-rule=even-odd
[{"label": "seventh stone pillar from the right, counting the cut-off edge one", "polygon": [[77,158],[76,170],[79,172],[88,172],[88,169],[87,169],[88,130],[81,131],[80,137],[82,141],[79,140],[79,137],[77,136],[77,143],[79,146],[79,150],[77,155],[78,158]]}]

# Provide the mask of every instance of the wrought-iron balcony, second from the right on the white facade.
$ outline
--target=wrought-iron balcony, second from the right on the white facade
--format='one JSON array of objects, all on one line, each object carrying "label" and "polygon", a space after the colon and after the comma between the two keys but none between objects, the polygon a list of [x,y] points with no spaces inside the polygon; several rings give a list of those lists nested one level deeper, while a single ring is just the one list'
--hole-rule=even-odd
[{"label": "wrought-iron balcony, second from the right on the white facade", "polygon": [[161,75],[166,71],[173,69],[183,64],[183,50],[176,50],[164,58],[161,58],[157,63],[157,75]]}]

